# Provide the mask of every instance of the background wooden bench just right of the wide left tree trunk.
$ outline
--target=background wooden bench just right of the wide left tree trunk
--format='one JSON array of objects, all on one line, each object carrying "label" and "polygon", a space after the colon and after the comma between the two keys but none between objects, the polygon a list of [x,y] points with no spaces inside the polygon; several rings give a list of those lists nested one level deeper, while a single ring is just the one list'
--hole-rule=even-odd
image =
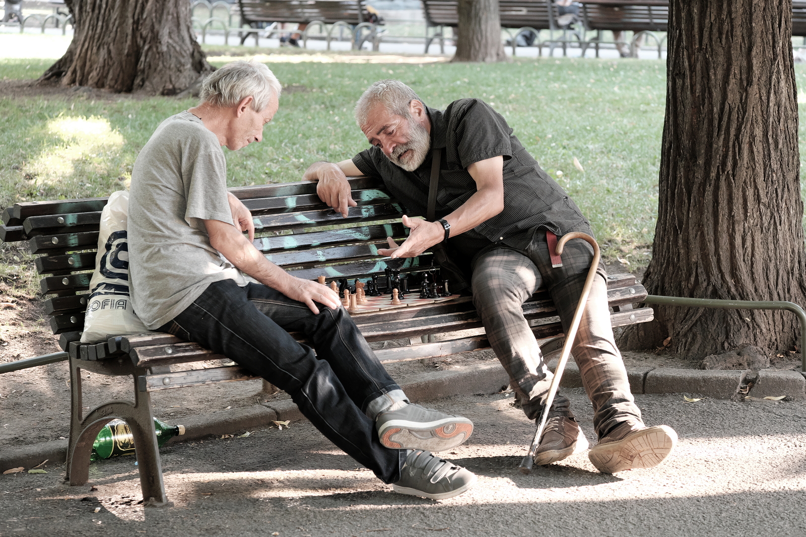
[{"label": "background wooden bench just right of the wide left tree trunk", "polygon": [[[308,39],[322,39],[321,36],[310,35],[314,27],[320,28],[330,50],[330,41],[334,39],[337,28],[346,28],[351,35],[352,48],[360,49],[365,40],[372,40],[372,50],[377,51],[380,33],[376,24],[368,22],[369,14],[364,0],[239,0],[241,23],[252,30],[240,30],[241,44],[249,35],[265,37],[272,34],[288,33],[290,30],[280,28],[281,23],[306,24],[305,30],[298,31],[303,39],[303,46]],[[330,27],[327,25],[330,24]],[[268,26],[267,26],[268,25]],[[364,33],[366,31],[366,34]]]}]

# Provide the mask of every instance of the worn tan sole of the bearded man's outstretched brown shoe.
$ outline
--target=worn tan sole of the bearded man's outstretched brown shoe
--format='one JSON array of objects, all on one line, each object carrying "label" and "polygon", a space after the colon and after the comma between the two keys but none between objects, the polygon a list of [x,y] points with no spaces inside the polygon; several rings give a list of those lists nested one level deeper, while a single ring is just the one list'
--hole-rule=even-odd
[{"label": "worn tan sole of the bearded man's outstretched brown shoe", "polygon": [[615,442],[597,445],[588,452],[588,458],[601,473],[653,468],[663,462],[675,445],[675,430],[658,425],[630,432]]}]

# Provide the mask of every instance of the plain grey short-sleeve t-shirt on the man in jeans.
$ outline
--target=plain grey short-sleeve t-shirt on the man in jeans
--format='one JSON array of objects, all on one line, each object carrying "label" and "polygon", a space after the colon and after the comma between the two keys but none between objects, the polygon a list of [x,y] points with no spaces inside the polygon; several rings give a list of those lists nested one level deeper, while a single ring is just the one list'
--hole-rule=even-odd
[{"label": "plain grey short-sleeve t-shirt on the man in jeans", "polygon": [[218,137],[181,112],[156,128],[131,171],[129,271],[140,320],[159,328],[185,311],[210,283],[240,271],[210,246],[202,220],[232,224],[226,160]]}]

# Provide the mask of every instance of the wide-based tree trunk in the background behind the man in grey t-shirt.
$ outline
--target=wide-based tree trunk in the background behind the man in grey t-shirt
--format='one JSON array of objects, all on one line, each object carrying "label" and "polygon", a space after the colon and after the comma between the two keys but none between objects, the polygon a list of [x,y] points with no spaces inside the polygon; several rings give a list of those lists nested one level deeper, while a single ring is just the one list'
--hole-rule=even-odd
[{"label": "wide-based tree trunk in the background behind the man in grey t-shirt", "polygon": [[66,0],[73,42],[40,81],[173,95],[214,69],[196,41],[188,0]]}]

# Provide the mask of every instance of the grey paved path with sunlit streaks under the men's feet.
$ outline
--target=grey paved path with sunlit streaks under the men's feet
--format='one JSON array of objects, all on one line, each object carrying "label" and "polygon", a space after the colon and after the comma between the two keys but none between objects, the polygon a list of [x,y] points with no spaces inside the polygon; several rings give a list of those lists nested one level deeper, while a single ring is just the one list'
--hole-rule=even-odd
[{"label": "grey paved path with sunlit streaks under the men's feet", "polygon": [[[590,438],[584,393],[565,393]],[[467,444],[443,453],[479,476],[451,500],[394,494],[303,421],[165,448],[171,508],[136,504],[131,457],[93,463],[94,491],[61,484],[60,467],[0,476],[0,535],[806,534],[802,402],[638,395],[648,423],[667,423],[681,437],[664,465],[609,476],[583,453],[524,476],[517,465],[533,426],[511,400],[468,395],[434,404],[476,422]]]}]

